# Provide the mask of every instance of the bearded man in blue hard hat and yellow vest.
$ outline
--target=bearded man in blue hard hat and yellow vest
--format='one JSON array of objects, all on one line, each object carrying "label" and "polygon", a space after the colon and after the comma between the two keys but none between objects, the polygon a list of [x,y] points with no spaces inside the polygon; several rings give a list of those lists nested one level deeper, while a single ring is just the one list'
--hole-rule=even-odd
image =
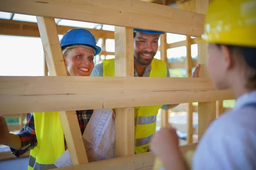
[{"label": "bearded man in blue hard hat and yellow vest", "polygon": [[[165,32],[134,28],[134,77],[170,77],[168,65],[154,58],[161,34]],[[94,67],[91,76],[113,77],[114,66],[114,59],[104,59]],[[198,75],[198,69],[196,73]],[[177,105],[134,107],[135,153],[148,152],[150,138],[156,130],[158,110],[175,106]]]}]

